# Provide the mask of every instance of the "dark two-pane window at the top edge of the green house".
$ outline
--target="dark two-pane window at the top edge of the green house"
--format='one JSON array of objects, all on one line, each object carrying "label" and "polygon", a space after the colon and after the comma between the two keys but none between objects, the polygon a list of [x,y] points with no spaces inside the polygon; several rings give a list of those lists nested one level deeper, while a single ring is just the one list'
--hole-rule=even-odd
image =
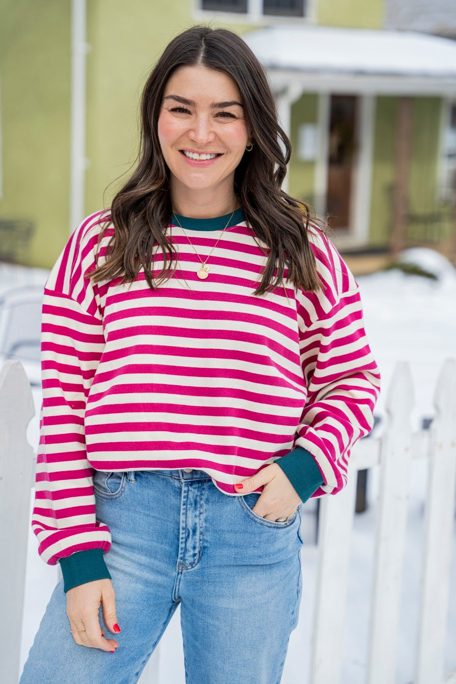
[{"label": "dark two-pane window at the top edge of the green house", "polygon": [[198,10],[232,13],[256,19],[262,16],[305,17],[309,0],[199,0]]}]

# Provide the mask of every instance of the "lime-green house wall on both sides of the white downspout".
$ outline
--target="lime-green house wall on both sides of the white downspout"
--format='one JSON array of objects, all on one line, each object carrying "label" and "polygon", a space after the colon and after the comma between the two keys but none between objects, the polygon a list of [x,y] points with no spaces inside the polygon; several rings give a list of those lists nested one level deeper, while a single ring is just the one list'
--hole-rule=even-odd
[{"label": "lime-green house wall on both sides of the white downspout", "polygon": [[[208,15],[192,21],[181,0],[87,3],[84,215],[108,207],[139,145],[142,87],[165,45],[196,24],[240,35]],[[3,196],[0,218],[33,220],[22,263],[51,267],[70,226],[70,0],[0,0]]]}]

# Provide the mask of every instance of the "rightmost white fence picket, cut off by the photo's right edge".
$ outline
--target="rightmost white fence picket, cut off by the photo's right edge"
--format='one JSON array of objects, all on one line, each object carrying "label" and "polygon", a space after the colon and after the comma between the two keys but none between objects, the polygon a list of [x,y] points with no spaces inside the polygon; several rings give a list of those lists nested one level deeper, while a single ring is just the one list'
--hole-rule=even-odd
[{"label": "rightmost white fence picket, cut off by the photo's right edge", "polygon": [[416,684],[444,681],[444,644],[456,481],[456,360],[444,363],[435,387]]}]

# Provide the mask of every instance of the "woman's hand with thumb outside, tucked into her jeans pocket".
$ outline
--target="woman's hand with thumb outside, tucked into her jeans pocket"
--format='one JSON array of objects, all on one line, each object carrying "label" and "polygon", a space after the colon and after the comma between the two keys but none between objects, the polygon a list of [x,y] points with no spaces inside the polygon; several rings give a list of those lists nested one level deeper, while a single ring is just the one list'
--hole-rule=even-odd
[{"label": "woman's hand with thumb outside, tucked into her jeans pocket", "polygon": [[276,521],[277,518],[291,518],[299,503],[302,503],[297,491],[277,463],[271,463],[252,477],[241,480],[241,484],[243,488],[239,490],[236,484],[234,485],[234,488],[241,494],[250,494],[262,484],[265,485],[252,508],[254,513],[265,520]]}]

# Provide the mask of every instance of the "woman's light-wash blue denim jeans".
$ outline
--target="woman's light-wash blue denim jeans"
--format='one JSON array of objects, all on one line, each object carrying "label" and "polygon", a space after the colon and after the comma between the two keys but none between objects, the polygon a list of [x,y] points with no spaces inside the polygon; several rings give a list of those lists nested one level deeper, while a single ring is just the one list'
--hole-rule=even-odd
[{"label": "woman's light-wash blue denim jeans", "polygon": [[120,633],[116,653],[76,644],[63,579],[46,607],[20,684],[132,684],[180,603],[186,684],[278,684],[297,625],[301,507],[288,523],[252,512],[260,492],[230,496],[201,470],[94,475],[96,518]]}]

